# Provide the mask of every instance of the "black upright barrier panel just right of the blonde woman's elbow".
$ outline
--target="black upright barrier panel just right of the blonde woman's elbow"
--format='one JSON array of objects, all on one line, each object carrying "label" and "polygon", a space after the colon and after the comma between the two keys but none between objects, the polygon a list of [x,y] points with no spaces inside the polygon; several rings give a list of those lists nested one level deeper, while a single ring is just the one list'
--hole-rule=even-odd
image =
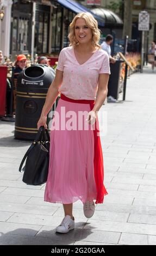
[{"label": "black upright barrier panel just right of the blonde woman's elbow", "polygon": [[120,89],[120,72],[121,72],[122,60],[116,60],[116,62],[110,63],[110,77],[108,81],[108,95],[113,96],[114,99],[118,99],[118,93]]}]

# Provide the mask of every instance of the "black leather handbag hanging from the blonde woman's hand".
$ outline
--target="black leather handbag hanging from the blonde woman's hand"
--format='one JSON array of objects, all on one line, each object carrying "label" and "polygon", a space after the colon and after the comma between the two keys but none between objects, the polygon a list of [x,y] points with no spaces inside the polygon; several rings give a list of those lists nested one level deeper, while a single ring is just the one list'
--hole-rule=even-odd
[{"label": "black leather handbag hanging from the blonde woman's hand", "polygon": [[[49,133],[44,126],[41,126],[19,167],[19,172],[24,172],[22,179],[24,183],[28,185],[41,185],[47,181],[49,144]],[[22,169],[25,160],[26,164]]]}]

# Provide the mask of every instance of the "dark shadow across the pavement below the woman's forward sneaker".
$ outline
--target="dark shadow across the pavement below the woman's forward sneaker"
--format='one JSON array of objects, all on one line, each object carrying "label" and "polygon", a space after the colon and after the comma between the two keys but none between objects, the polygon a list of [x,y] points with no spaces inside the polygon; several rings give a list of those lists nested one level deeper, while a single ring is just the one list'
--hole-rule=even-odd
[{"label": "dark shadow across the pavement below the woman's forward sneaker", "polygon": [[49,231],[43,229],[37,231],[19,228],[5,234],[0,233],[0,245],[73,245],[75,241],[87,241],[87,237],[92,233],[91,230],[79,228],[67,234],[55,233],[55,228]]}]

